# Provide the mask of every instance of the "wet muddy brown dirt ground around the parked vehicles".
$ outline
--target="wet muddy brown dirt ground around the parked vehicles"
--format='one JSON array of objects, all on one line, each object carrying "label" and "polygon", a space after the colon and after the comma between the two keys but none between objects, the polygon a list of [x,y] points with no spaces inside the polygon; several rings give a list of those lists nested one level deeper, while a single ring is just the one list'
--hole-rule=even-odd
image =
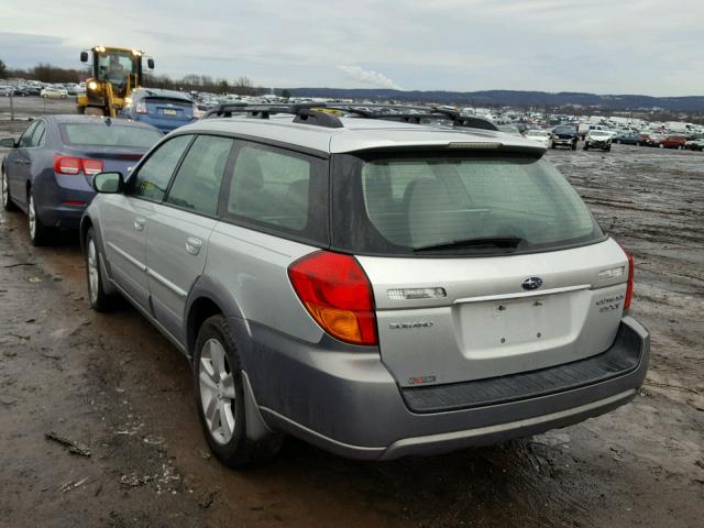
[{"label": "wet muddy brown dirt ground around the parked vehicles", "polygon": [[[0,122],[0,136],[25,125]],[[88,308],[75,237],[32,249],[25,217],[2,213],[0,526],[701,527],[704,154],[615,145],[548,157],[635,254],[647,382],[607,416],[428,459],[361,463],[288,439],[263,468],[222,468],[183,356],[128,306]]]}]

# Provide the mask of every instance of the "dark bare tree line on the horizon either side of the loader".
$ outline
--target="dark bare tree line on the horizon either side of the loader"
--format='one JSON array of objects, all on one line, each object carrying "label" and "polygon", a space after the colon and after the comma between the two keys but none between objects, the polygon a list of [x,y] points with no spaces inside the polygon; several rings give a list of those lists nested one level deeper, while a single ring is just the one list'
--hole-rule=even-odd
[{"label": "dark bare tree line on the horizon either side of the loader", "polygon": [[[25,79],[41,82],[80,82],[91,75],[91,69],[62,68],[51,64],[40,63],[34,67],[9,68],[0,59],[0,79]],[[167,90],[207,91],[212,94],[235,94],[240,96],[260,96],[266,90],[254,86],[248,77],[239,77],[234,81],[224,78],[213,78],[209,75],[189,74],[182,78],[168,75],[144,73],[142,85],[146,88],[163,88]]]}]

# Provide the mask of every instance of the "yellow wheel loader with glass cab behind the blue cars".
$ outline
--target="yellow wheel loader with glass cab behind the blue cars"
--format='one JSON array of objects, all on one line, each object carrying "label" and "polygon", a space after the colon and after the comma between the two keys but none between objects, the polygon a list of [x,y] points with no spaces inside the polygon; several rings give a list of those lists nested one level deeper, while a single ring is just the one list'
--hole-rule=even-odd
[{"label": "yellow wheel loader with glass cab behind the blue cars", "polygon": [[[117,118],[132,90],[142,86],[142,56],[139,50],[95,46],[80,52],[80,62],[92,55],[92,77],[86,81],[86,94],[76,98],[78,113]],[[148,69],[154,59],[147,58]]]}]

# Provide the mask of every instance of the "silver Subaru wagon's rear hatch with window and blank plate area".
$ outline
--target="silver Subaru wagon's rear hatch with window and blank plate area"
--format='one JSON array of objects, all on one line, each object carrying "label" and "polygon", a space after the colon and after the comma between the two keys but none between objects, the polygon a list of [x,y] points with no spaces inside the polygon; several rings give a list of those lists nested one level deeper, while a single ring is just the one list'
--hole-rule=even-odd
[{"label": "silver Subaru wagon's rear hatch with window and blank plate area", "polygon": [[548,162],[475,152],[340,163],[333,245],[370,278],[382,360],[400,386],[534,371],[613,343],[627,257]]}]

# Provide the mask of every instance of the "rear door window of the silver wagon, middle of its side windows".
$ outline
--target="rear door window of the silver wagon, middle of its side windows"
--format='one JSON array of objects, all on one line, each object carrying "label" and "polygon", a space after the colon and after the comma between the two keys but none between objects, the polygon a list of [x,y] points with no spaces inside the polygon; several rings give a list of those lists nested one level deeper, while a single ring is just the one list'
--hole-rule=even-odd
[{"label": "rear door window of the silver wagon, middle of its side windows", "polygon": [[178,168],[166,202],[215,216],[224,166],[233,144],[234,141],[228,138],[198,136]]}]

